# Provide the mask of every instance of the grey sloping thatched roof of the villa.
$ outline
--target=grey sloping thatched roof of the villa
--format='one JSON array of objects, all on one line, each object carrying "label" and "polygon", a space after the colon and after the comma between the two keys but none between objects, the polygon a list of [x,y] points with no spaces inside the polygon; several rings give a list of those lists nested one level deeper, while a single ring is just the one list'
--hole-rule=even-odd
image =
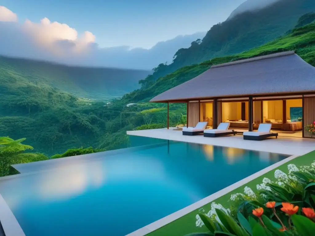
[{"label": "grey sloping thatched roof of the villa", "polygon": [[315,91],[315,67],[294,51],[213,65],[150,102]]}]

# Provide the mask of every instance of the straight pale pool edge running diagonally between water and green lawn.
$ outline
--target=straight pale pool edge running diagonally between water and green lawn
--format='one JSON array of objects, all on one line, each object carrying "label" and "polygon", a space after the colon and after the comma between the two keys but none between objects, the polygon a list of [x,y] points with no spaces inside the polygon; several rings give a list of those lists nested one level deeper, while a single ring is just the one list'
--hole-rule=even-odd
[{"label": "straight pale pool edge running diagonally between water and green lawn", "polygon": [[287,158],[285,158],[284,160],[281,160],[271,166],[268,166],[266,167],[265,169],[262,169],[236,183],[233,183],[232,185],[229,185],[228,187],[226,188],[223,188],[221,189],[220,191],[218,192],[215,192],[214,194],[211,194],[209,195],[208,197],[205,197],[189,206],[186,206],[185,208],[182,208],[178,211],[175,211],[174,213],[168,215],[168,216],[165,216],[155,222],[152,222],[151,224],[148,224],[138,230],[135,230],[134,232],[132,233],[129,233],[125,236],[144,236],[144,235],[147,235],[148,233],[152,233],[153,231],[159,229],[159,228],[162,228],[163,226],[179,219],[180,217],[182,216],[185,216],[186,214],[192,212],[192,211],[195,211],[197,210],[198,208],[214,201],[215,199],[218,199],[219,197],[225,195],[225,194],[228,194],[229,192],[241,187],[242,185],[246,184],[246,183],[249,183],[250,181],[256,179],[257,177],[260,177],[264,174],[266,174],[267,172],[269,171],[272,171],[273,169],[289,162],[290,160],[293,160],[297,157],[299,157],[300,155],[291,155]]}]

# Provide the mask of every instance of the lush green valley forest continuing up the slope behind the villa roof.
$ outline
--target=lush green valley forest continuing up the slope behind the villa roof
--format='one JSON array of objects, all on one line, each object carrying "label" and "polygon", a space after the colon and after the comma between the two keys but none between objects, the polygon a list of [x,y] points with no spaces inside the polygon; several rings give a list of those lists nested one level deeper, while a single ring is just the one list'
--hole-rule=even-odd
[{"label": "lush green valley forest continuing up the slope behind the villa roof", "polygon": [[[315,66],[314,45],[315,23],[307,24],[263,46],[180,68],[160,77],[152,86],[127,93],[110,103],[82,99],[47,83],[36,84],[28,73],[16,72],[13,66],[11,70],[1,67],[0,136],[27,138],[24,143],[33,146],[34,152],[50,156],[69,148],[93,146],[109,150],[127,147],[127,130],[142,125],[144,128],[166,126],[166,105],[148,103],[153,96],[192,79],[211,65],[275,52],[294,49]],[[51,76],[51,81],[55,81],[58,74]],[[46,80],[50,80],[48,75]],[[129,103],[136,104],[127,106]],[[185,113],[185,104],[171,104],[170,125],[183,123]]]}]

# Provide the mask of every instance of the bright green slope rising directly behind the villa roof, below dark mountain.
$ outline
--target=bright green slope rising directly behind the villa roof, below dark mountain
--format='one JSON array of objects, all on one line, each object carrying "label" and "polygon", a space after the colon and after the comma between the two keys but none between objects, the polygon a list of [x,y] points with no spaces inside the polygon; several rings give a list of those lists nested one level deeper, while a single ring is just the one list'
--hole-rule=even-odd
[{"label": "bright green slope rising directly behind the villa roof, below dark mountain", "polygon": [[305,14],[298,21],[298,25],[304,26],[294,28],[283,37],[243,53],[218,57],[200,64],[180,68],[173,73],[160,77],[150,87],[142,87],[126,94],[123,96],[123,100],[125,103],[146,102],[154,96],[200,75],[212,65],[271,53],[295,50],[302,59],[315,66],[315,23],[306,24],[312,21],[315,21],[315,13]]}]

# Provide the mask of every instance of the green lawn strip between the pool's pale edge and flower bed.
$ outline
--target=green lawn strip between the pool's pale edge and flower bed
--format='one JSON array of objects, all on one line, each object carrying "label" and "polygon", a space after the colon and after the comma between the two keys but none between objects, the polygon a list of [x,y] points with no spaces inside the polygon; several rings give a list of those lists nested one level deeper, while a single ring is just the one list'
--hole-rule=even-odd
[{"label": "green lawn strip between the pool's pale edge and flower bed", "polygon": [[[315,151],[312,151],[306,155],[299,156],[293,160],[290,160],[283,165],[273,169],[272,171],[267,172],[266,174],[250,181],[249,183],[244,184],[243,186],[229,192],[222,197],[215,199],[215,203],[223,205],[225,208],[230,207],[230,197],[231,194],[235,193],[244,193],[244,187],[248,186],[249,188],[256,190],[256,185],[261,184],[263,178],[269,178],[271,181],[275,181],[274,172],[279,169],[285,173],[288,173],[287,166],[289,164],[295,164],[297,167],[299,166],[310,166],[311,163],[315,160]],[[202,207],[205,212],[208,212],[211,208],[211,203],[208,203]],[[163,226],[162,228],[157,229],[156,231],[147,234],[147,236],[184,236],[187,233],[193,232],[206,232],[207,229],[205,227],[198,228],[195,225],[196,215],[198,214],[198,209],[188,213],[185,216]]]}]

